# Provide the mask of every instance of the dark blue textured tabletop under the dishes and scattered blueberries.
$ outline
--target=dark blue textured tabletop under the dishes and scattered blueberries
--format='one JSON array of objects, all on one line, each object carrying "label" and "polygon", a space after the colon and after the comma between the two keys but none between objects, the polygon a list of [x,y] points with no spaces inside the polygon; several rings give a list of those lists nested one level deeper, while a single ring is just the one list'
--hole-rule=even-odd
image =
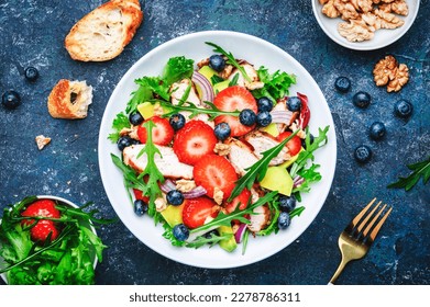
[{"label": "dark blue textured tabletop under the dishes and scattered blueberries", "polygon": [[[371,253],[349,265],[340,284],[430,283],[430,185],[418,183],[410,192],[387,190],[406,175],[406,164],[430,152],[429,15],[421,1],[418,19],[395,44],[375,52],[354,52],[333,43],[320,30],[310,1],[141,1],[144,23],[132,43],[107,62],[78,62],[64,48],[74,23],[102,1],[0,2],[0,89],[14,89],[22,105],[0,107],[0,208],[26,195],[54,194],[84,204],[96,202],[104,216],[114,212],[101,184],[98,129],[108,99],[123,73],[159,44],[205,30],[231,30],[262,37],[300,61],[324,93],[338,132],[338,163],[329,197],[296,242],[258,263],[232,270],[189,268],[168,260],[141,243],[122,223],[99,229],[109,246],[97,268],[97,284],[327,284],[340,260],[338,236],[359,208],[377,196],[392,204],[388,218]],[[394,54],[410,68],[410,80],[398,93],[387,93],[373,81],[374,64]],[[24,69],[40,70],[36,82],[24,79]],[[352,90],[340,94],[337,77],[348,76]],[[46,100],[62,78],[87,80],[95,99],[84,121],[53,120]],[[371,93],[372,105],[359,110],[352,95]],[[408,120],[393,114],[399,99],[412,102]],[[368,138],[367,129],[382,121],[387,136]],[[53,138],[38,151],[34,137]],[[374,156],[361,166],[353,149],[368,145]]]}]

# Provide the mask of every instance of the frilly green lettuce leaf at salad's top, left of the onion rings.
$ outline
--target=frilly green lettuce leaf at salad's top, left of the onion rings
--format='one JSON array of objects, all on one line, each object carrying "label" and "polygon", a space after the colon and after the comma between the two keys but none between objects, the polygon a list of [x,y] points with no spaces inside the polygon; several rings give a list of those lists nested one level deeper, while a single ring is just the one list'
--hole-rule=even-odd
[{"label": "frilly green lettuce leaf at salad's top, left of the onion rings", "polygon": [[191,78],[194,72],[194,60],[184,56],[169,58],[164,67],[162,79],[168,87],[172,83],[185,78]]}]

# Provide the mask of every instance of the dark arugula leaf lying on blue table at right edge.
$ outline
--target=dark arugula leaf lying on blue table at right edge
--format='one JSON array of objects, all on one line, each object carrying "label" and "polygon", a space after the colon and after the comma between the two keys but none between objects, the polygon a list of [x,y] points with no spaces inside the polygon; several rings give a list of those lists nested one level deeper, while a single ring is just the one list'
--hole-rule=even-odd
[{"label": "dark arugula leaf lying on blue table at right edge", "polygon": [[398,181],[388,184],[388,189],[405,189],[405,191],[409,191],[421,178],[423,184],[427,184],[430,179],[430,156],[420,162],[408,164],[407,167],[412,172],[406,178],[399,177]]}]

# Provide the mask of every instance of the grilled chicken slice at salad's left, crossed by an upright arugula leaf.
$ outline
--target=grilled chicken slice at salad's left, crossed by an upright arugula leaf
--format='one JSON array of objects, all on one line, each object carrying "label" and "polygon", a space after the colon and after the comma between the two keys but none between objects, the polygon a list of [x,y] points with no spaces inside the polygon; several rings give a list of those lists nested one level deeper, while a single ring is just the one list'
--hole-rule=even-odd
[{"label": "grilled chicken slice at salad's left, crossed by an upright arugula leaf", "polygon": [[[143,154],[137,158],[139,152],[141,152],[144,146],[145,145],[143,144],[132,145],[125,147],[122,151],[124,163],[139,172],[142,172],[147,164],[146,154]],[[178,157],[170,147],[157,145],[156,147],[158,148],[161,156],[155,155],[155,164],[165,178],[192,179],[192,167],[179,162]]]}]

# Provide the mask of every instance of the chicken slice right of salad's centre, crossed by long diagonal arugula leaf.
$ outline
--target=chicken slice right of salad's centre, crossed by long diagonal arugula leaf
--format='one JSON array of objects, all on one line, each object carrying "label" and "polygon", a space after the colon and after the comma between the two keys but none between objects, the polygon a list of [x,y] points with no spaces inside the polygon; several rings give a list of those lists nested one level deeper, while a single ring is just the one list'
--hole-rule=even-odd
[{"label": "chicken slice right of salad's centre, crossed by long diagonal arugula leaf", "polygon": [[[255,156],[258,159],[263,158],[262,152],[279,145],[272,135],[262,133],[262,132],[252,132],[245,136],[245,140],[253,147]],[[272,159],[268,163],[269,166],[278,166],[289,160],[291,157],[288,154],[288,149],[286,147],[280,150],[279,155]]]}]

